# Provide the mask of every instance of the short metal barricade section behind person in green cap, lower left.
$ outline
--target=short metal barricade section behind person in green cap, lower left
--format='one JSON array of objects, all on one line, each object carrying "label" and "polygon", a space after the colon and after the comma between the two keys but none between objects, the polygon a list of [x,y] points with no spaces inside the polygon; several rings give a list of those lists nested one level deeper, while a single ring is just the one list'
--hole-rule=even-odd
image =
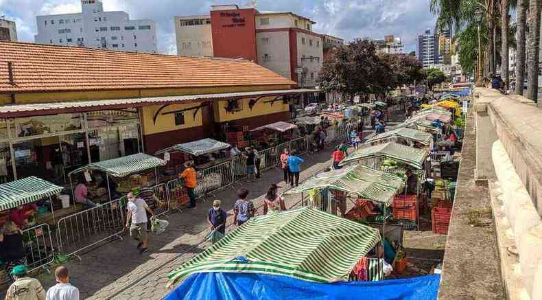
[{"label": "short metal barricade section behind person in green cap, lower left", "polygon": [[23,230],[26,265],[29,272],[55,262],[55,249],[49,224],[39,224]]}]

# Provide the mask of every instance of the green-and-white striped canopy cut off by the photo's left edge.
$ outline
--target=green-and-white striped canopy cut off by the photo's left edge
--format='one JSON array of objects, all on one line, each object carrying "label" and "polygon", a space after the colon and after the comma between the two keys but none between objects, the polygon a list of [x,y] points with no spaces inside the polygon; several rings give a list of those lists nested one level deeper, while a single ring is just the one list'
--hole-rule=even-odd
[{"label": "green-and-white striped canopy cut off by the photo's left edge", "polygon": [[3,183],[0,185],[0,211],[56,195],[62,189],[58,185],[35,176]]}]

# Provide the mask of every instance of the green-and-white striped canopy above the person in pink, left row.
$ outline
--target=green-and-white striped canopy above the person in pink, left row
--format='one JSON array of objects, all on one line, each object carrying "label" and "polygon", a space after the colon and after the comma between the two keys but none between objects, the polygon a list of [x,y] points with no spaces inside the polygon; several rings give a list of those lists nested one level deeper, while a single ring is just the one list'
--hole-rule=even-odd
[{"label": "green-and-white striped canopy above the person in pink, left row", "polygon": [[165,164],[166,162],[162,159],[158,159],[158,157],[153,157],[152,155],[145,153],[137,153],[126,157],[110,159],[108,161],[91,163],[90,165],[85,165],[84,167],[71,171],[69,175],[71,176],[71,174],[80,173],[85,170],[100,170],[113,177],[124,177]]}]

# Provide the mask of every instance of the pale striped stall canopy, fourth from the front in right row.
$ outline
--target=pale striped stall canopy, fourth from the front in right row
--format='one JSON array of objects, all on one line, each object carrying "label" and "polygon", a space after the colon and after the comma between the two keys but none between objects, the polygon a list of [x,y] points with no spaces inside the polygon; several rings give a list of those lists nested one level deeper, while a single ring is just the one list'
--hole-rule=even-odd
[{"label": "pale striped stall canopy, fourth from the front in right row", "polygon": [[374,145],[375,143],[386,143],[388,141],[403,143],[411,147],[419,145],[416,148],[431,149],[433,135],[421,130],[402,127],[376,135],[375,137],[368,139],[366,143]]}]

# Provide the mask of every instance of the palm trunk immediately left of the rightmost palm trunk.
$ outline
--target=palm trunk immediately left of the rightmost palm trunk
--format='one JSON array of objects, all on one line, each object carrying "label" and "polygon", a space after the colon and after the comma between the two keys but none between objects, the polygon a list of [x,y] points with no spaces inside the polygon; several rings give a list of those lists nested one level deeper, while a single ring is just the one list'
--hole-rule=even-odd
[{"label": "palm trunk immediately left of the rightmost palm trunk", "polygon": [[523,95],[525,80],[525,19],[528,0],[517,0],[517,38],[516,38],[516,90],[517,95]]}]

